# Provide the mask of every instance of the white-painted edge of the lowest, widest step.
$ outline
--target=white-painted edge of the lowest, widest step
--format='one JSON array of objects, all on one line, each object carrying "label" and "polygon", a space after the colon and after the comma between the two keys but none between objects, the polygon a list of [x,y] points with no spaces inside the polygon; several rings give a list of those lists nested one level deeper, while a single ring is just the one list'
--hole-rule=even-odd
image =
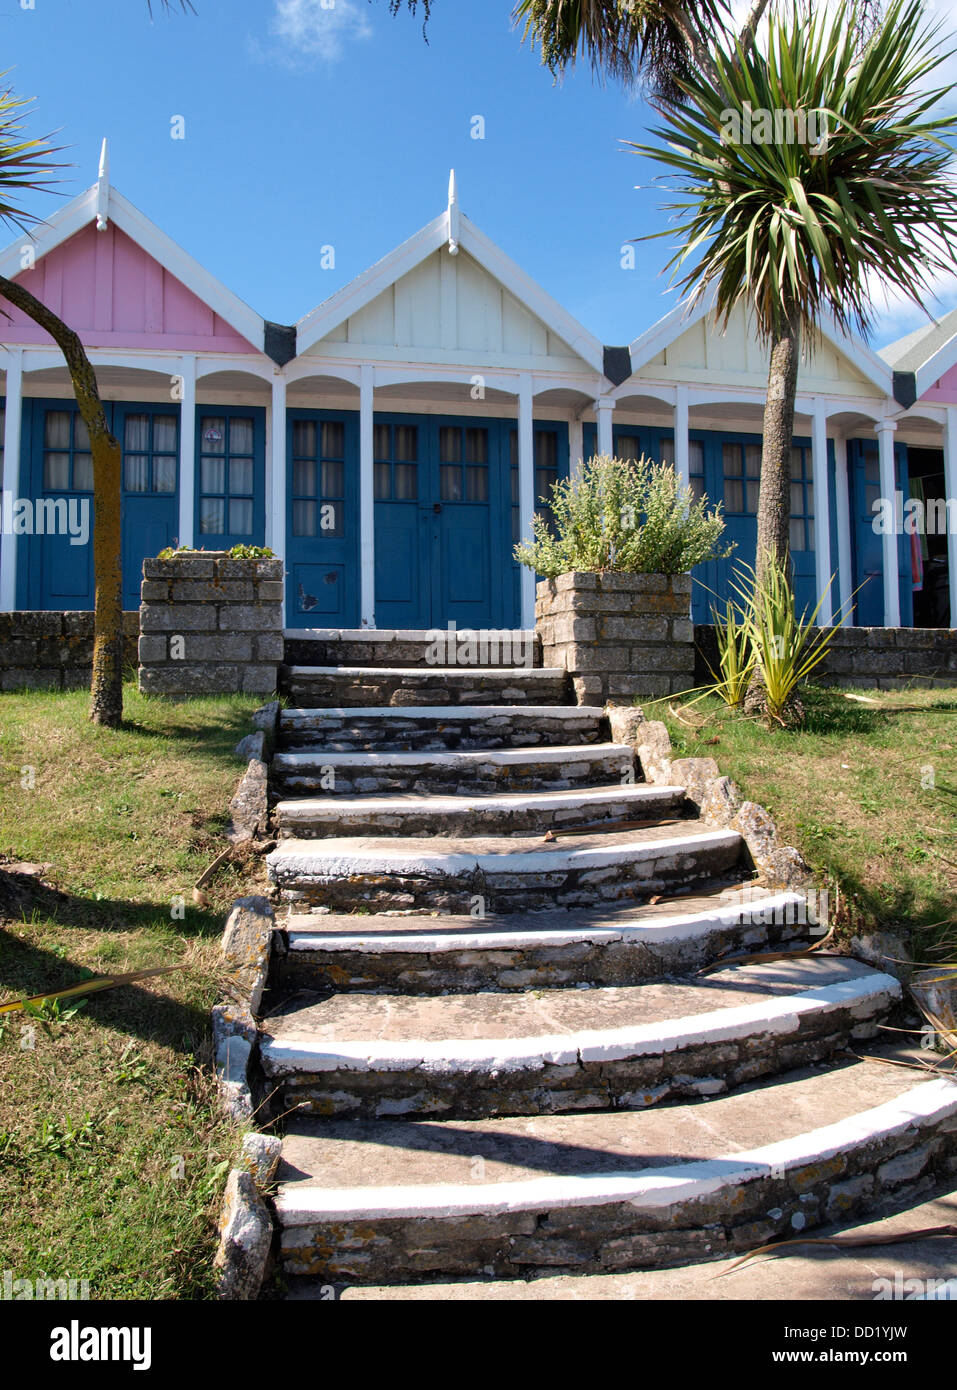
[{"label": "white-painted edge of the lowest, widest step", "polygon": [[957,1116],[957,1084],[925,1081],[893,1101],[808,1130],[793,1138],[723,1158],[676,1163],[636,1173],[534,1177],[512,1183],[427,1183],[409,1187],[282,1187],[275,1208],[284,1227],[377,1218],[477,1216],[544,1212],[568,1207],[629,1202],[661,1211],[766,1177],[786,1177],[808,1163],[844,1156],[869,1143],[897,1138]]}]

